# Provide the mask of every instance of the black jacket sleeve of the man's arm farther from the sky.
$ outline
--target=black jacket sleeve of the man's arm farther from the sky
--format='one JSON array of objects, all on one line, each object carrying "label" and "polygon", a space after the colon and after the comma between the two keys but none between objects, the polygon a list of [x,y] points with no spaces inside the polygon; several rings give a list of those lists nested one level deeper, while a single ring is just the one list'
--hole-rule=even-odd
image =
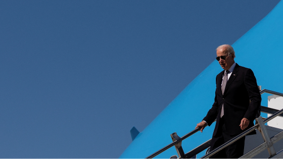
[{"label": "black jacket sleeve of the man's arm farther from the sky", "polygon": [[247,118],[249,121],[253,121],[256,117],[256,113],[260,107],[261,103],[261,95],[258,90],[256,77],[251,69],[248,69],[245,74],[244,83],[246,86],[246,89],[249,93],[250,97],[250,105],[249,108],[244,116],[244,118]]}]

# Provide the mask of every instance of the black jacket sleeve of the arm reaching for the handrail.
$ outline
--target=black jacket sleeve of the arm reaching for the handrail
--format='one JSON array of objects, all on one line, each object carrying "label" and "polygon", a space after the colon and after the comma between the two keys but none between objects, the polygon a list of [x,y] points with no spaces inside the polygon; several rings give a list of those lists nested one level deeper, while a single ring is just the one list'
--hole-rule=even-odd
[{"label": "black jacket sleeve of the arm reaching for the handrail", "polygon": [[[217,76],[216,76],[216,82],[217,82]],[[216,85],[217,89],[217,85]],[[217,100],[217,95],[216,95],[216,90],[215,90],[215,97],[214,97],[214,103],[212,104],[212,108],[207,112],[206,117],[204,117],[203,121],[206,121],[208,126],[210,126],[213,121],[217,117],[217,110],[218,110],[218,100]]]}]

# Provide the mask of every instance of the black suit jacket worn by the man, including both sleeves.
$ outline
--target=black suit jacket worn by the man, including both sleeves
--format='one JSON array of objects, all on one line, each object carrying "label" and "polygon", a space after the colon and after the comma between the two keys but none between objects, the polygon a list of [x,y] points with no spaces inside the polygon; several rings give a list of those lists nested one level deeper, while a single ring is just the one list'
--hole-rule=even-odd
[{"label": "black suit jacket worn by the man, including both sleeves", "polygon": [[[203,119],[210,126],[217,117],[213,136],[216,135],[218,129],[222,104],[224,105],[224,116],[222,118],[224,118],[226,130],[230,135],[237,135],[254,126],[253,121],[261,103],[261,95],[255,75],[251,69],[236,64],[222,95],[221,83],[223,74],[224,70],[216,76],[214,103]],[[243,118],[247,118],[250,121],[249,126],[245,130],[242,130],[239,126]],[[253,131],[249,135],[251,134],[256,134],[256,132]]]}]

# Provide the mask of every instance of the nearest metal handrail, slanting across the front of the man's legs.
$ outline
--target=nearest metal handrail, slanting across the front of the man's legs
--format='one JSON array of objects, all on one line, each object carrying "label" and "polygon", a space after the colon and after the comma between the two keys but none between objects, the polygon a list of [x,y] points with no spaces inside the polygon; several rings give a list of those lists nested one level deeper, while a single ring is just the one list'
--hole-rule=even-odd
[{"label": "nearest metal handrail, slanting across the front of the man's legs", "polygon": [[[266,118],[265,120],[263,120],[263,123],[267,123],[268,121],[272,120],[273,118],[279,116],[281,113],[283,113],[283,109],[281,109],[280,111],[276,112],[275,114],[269,116],[268,118]],[[243,136],[247,135],[248,133],[252,132],[253,130],[257,129],[259,127],[259,124],[251,127],[250,129],[246,130],[245,132],[241,133],[240,135],[232,138],[231,140],[229,140],[228,142],[224,143],[223,145],[217,147],[216,149],[214,149],[213,151],[209,152],[208,154],[202,156],[201,158],[208,158],[210,156],[212,156],[213,154],[217,153],[218,151],[222,150],[223,148],[227,147],[228,145],[230,145],[231,143],[237,141],[238,139],[242,138]],[[267,147],[266,147],[267,148]]]}]

